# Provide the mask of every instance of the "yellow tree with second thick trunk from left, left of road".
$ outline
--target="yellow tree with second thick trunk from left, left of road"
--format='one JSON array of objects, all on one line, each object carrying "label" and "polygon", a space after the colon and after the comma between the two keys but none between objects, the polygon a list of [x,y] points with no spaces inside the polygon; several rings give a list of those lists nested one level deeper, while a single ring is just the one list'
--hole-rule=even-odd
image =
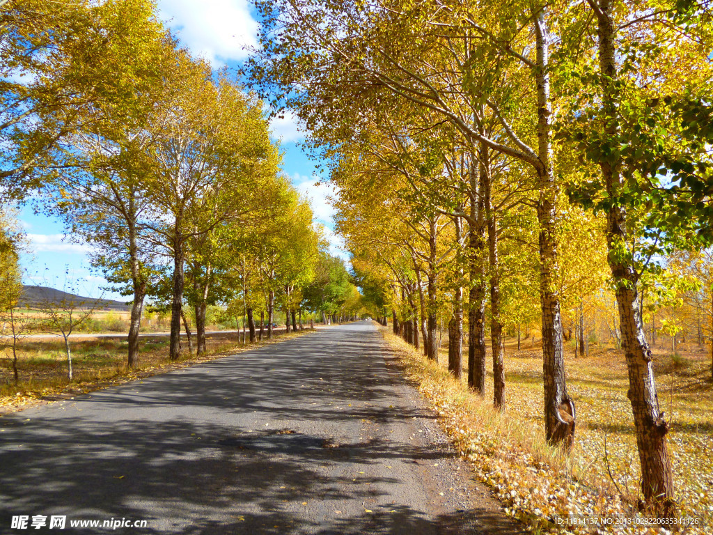
[{"label": "yellow tree with second thick trunk from left, left of road", "polygon": [[153,213],[144,223],[173,260],[170,358],[177,360],[188,241],[229,221],[245,219],[259,190],[252,166],[273,152],[257,99],[185,55],[183,76],[152,121],[163,135],[152,146],[155,168],[145,180]]}]

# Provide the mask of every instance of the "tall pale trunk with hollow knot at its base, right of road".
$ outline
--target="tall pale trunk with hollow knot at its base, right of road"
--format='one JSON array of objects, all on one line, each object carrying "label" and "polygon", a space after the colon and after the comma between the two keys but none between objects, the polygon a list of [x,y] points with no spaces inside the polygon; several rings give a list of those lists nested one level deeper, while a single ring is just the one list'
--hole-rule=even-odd
[{"label": "tall pale trunk with hollow knot at its base, right of road", "polygon": [[545,435],[552,444],[572,447],[576,427],[575,404],[567,394],[562,342],[560,299],[555,280],[558,272],[556,245],[557,185],[551,161],[549,35],[545,9],[533,11],[535,24],[535,79],[538,103],[538,205],[540,223],[540,299],[542,303],[543,374],[545,379]]}]

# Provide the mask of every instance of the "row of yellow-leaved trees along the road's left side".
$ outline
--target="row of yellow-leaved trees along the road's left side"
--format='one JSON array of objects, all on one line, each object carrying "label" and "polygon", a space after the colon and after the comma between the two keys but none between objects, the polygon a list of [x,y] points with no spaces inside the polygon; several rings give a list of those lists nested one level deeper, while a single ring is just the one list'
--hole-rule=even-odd
[{"label": "row of yellow-leaved trees along the road's left side", "polygon": [[303,310],[324,321],[359,311],[344,263],[280,170],[264,104],[181,48],[153,2],[10,0],[0,47],[3,311],[21,285],[8,207],[30,198],[130,296],[132,368],[148,298],[170,310],[171,360],[186,306],[198,355],[215,303],[245,317],[250,341],[272,337],[277,307],[288,331]]}]

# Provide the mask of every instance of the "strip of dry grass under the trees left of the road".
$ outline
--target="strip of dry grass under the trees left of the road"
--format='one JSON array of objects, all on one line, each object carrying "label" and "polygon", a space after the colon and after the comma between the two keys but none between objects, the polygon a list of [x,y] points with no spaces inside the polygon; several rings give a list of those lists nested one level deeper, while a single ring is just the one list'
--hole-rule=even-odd
[{"label": "strip of dry grass under the trees left of the road", "polygon": [[207,335],[207,355],[200,358],[195,354],[188,355],[188,345],[183,339],[178,362],[170,362],[168,359],[168,337],[141,337],[137,370],[130,370],[127,366],[127,342],[124,337],[97,339],[77,335],[71,338],[74,375],[72,382],[67,379],[63,340],[56,338],[22,340],[18,355],[19,382],[17,383],[14,382],[10,350],[0,350],[0,414],[169,372],[198,362],[206,362],[287,340],[307,332],[310,331],[291,332],[289,335],[277,332],[273,340],[263,340],[249,345],[237,342],[237,333]]}]

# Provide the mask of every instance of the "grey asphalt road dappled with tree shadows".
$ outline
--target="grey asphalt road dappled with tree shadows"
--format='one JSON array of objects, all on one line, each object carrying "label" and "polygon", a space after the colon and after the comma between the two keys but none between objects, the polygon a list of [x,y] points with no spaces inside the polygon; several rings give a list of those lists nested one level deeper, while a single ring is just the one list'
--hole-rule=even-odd
[{"label": "grey asphalt road dappled with tree shadows", "polygon": [[[519,531],[371,322],[0,418],[0,511],[0,533]],[[147,527],[70,527],[111,519]]]}]

